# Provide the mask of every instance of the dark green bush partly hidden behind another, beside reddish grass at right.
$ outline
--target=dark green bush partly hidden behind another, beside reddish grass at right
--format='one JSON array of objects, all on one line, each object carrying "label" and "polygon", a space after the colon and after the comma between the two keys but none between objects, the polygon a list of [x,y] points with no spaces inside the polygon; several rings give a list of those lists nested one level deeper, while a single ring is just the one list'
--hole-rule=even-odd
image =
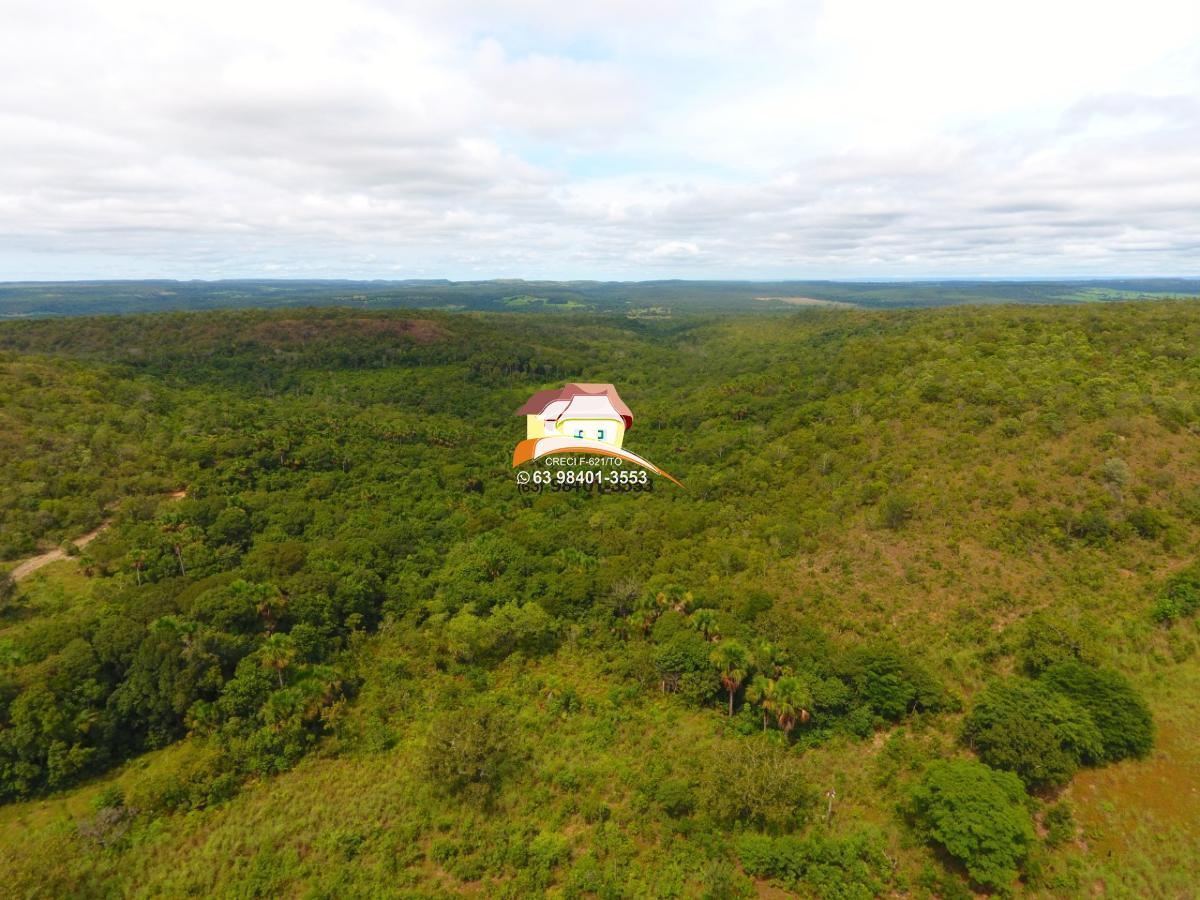
[{"label": "dark green bush partly hidden behind another, beside reddish grass at right", "polygon": [[1100,732],[1098,761],[1115,762],[1150,752],[1154,743],[1150,708],[1120,672],[1082,662],[1062,662],[1048,668],[1042,678],[1091,715]]}]

